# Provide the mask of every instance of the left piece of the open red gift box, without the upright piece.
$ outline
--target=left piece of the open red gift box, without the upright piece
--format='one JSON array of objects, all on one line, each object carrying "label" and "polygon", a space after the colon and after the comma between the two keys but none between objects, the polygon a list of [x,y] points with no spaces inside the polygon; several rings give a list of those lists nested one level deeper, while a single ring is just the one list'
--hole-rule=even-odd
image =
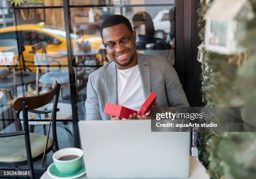
[{"label": "left piece of the open red gift box, without the upright piece", "polygon": [[130,108],[126,108],[124,106],[120,106],[118,104],[106,103],[104,113],[112,116],[128,119],[130,114],[133,114],[133,113],[137,114],[138,111],[135,111]]}]

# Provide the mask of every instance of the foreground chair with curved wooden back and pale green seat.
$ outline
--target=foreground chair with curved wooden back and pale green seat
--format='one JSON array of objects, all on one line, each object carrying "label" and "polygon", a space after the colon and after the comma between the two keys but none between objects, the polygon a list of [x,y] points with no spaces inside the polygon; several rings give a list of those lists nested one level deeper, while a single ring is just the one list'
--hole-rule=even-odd
[{"label": "foreground chair with curved wooden back and pale green seat", "polygon": [[[49,151],[59,150],[57,134],[56,134],[56,112],[59,111],[57,108],[59,91],[61,85],[55,82],[54,87],[51,91],[30,97],[17,98],[13,102],[13,108],[17,112],[17,120],[19,124],[19,131],[12,133],[0,134],[0,166],[8,166],[16,170],[20,170],[18,166],[28,164],[28,169],[32,171],[31,179],[35,178],[33,171],[33,162],[42,158],[46,141],[47,149]],[[38,111],[36,108],[45,106],[54,100],[52,110]],[[23,112],[23,129],[19,119],[20,111]],[[52,134],[53,139],[47,139],[47,136],[41,134],[29,133],[28,130],[28,111],[32,113],[52,113]],[[25,137],[25,140],[23,138]]]}]

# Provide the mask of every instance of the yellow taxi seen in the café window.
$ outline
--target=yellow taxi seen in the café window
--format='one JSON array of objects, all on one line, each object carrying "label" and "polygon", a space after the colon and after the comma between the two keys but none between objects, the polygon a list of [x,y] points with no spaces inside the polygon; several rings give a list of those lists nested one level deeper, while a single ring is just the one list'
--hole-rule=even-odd
[{"label": "yellow taxi seen in the caf\u00e9 window", "polygon": [[[82,41],[89,41],[92,49],[102,48],[102,40],[100,36],[78,36],[71,34],[70,37],[72,39],[71,46],[73,48],[78,48],[77,43],[81,43]],[[32,62],[29,65],[33,65],[34,62],[32,46],[36,43],[46,41],[48,43],[46,52],[51,53],[51,55],[56,57],[60,56],[58,55],[59,50],[67,49],[66,32],[64,30],[46,28],[40,24],[17,25],[0,29],[0,52],[11,50],[15,47],[17,48],[17,41],[20,46],[25,48],[23,56],[26,61]],[[38,50],[38,53],[42,53],[42,50]],[[16,54],[15,56],[17,57],[18,55]],[[68,65],[67,57],[58,58],[58,61],[61,65]]]}]

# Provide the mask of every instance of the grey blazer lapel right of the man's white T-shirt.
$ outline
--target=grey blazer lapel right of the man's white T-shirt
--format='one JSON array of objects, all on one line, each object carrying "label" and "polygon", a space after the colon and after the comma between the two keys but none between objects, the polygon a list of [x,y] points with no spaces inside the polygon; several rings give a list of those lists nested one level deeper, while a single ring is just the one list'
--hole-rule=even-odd
[{"label": "grey blazer lapel right of the man's white T-shirt", "polygon": [[150,64],[141,54],[138,55],[138,67],[141,72],[141,83],[143,87],[144,98],[148,98],[151,93]]}]

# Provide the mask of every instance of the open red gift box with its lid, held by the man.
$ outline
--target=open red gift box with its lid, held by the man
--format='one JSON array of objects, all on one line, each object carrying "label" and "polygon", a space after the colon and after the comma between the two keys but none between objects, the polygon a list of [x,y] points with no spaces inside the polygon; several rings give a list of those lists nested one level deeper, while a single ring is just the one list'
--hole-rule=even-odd
[{"label": "open red gift box with its lid, held by the man", "polygon": [[104,113],[117,116],[120,118],[129,118],[130,114],[136,113],[137,115],[143,115],[150,111],[152,104],[156,101],[156,94],[152,92],[146,101],[142,104],[140,111],[135,111],[130,108],[126,108],[124,106],[120,106],[118,104],[106,103]]}]

